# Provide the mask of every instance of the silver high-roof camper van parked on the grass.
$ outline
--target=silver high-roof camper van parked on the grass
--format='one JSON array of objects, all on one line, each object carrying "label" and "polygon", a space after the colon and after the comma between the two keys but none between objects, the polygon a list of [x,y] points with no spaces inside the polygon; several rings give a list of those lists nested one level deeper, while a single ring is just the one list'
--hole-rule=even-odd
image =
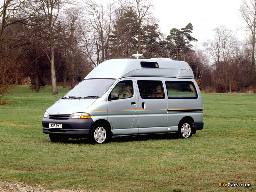
[{"label": "silver high-roof camper van parked on the grass", "polygon": [[106,60],[44,113],[52,141],[201,130],[203,102],[188,63],[159,59]]}]

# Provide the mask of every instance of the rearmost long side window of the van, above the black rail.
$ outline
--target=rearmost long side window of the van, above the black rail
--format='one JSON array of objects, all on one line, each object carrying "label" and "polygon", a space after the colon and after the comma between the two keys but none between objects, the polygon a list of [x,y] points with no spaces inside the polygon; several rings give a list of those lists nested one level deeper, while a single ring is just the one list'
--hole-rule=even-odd
[{"label": "rearmost long side window of the van, above the black rail", "polygon": [[196,88],[192,82],[166,81],[165,84],[169,99],[197,98]]}]

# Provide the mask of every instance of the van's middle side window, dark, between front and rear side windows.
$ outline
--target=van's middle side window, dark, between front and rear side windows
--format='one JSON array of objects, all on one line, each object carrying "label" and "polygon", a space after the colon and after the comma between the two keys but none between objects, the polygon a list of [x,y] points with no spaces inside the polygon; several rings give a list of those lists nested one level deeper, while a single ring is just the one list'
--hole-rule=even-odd
[{"label": "van's middle side window, dark, between front and rear side windows", "polygon": [[161,81],[138,81],[142,99],[164,99],[164,89]]}]

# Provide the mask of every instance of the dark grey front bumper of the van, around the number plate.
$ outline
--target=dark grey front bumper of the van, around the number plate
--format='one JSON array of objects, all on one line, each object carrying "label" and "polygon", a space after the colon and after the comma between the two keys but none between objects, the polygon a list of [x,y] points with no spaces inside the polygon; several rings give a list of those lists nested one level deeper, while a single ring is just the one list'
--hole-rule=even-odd
[{"label": "dark grey front bumper of the van, around the number plate", "polygon": [[[62,124],[62,129],[49,128],[50,123]],[[51,119],[43,118],[43,132],[45,134],[65,134],[69,137],[83,137],[90,134],[92,119]]]}]

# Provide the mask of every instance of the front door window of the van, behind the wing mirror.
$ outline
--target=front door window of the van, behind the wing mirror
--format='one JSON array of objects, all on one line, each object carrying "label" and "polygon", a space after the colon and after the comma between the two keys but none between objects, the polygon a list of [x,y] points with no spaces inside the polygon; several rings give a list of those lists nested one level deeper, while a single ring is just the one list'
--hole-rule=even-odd
[{"label": "front door window of the van, behind the wing mirror", "polygon": [[129,98],[133,95],[132,81],[121,81],[111,91],[109,98],[112,93],[118,93],[119,99]]}]

